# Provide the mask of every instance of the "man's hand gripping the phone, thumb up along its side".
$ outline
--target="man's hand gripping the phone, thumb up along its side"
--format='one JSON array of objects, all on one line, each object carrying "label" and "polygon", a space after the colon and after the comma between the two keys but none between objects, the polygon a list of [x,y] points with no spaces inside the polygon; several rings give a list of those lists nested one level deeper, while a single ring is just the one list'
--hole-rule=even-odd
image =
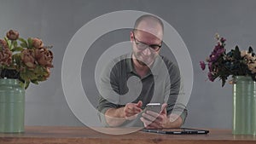
[{"label": "man's hand gripping the phone, thumb up along its side", "polygon": [[160,113],[146,111],[143,113],[143,117],[140,118],[143,121],[145,128],[147,129],[160,129],[166,128],[170,122],[170,118],[167,117],[166,112],[167,104],[163,104]]}]

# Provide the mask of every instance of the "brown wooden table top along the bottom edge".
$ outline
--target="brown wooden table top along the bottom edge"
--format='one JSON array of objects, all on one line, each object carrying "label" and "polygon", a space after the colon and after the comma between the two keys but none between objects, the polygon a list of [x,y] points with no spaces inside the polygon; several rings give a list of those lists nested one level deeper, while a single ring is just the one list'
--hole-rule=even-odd
[{"label": "brown wooden table top along the bottom edge", "polygon": [[[110,128],[99,128],[106,130]],[[132,128],[131,128],[132,129]],[[111,129],[124,130],[124,129]],[[235,144],[256,143],[255,135],[232,135],[231,130],[210,130],[207,135],[162,135],[137,131],[107,135],[86,127],[27,126],[20,134],[1,134],[0,144]]]}]

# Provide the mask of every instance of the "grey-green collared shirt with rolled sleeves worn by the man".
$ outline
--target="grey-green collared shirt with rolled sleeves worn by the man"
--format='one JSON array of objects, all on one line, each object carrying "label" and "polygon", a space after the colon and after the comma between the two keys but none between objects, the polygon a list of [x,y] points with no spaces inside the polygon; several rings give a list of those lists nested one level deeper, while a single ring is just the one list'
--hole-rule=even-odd
[{"label": "grey-green collared shirt with rolled sleeves worn by the man", "polygon": [[[170,60],[158,55],[148,74],[140,78],[133,67],[131,54],[114,59],[102,72],[98,115],[102,124],[108,126],[104,117],[108,108],[125,107],[126,103],[143,101],[144,108],[149,102],[167,103],[167,115],[180,114],[183,122],[187,117],[185,105],[177,101],[184,95],[179,69]],[[126,120],[120,126],[143,126],[139,116]]]}]

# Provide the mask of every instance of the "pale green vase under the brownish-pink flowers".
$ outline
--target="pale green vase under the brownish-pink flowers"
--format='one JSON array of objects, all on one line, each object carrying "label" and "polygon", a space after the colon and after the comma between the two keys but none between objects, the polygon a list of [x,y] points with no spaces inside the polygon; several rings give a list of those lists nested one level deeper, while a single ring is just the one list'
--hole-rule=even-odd
[{"label": "pale green vase under the brownish-pink flowers", "polygon": [[24,132],[25,89],[17,79],[0,79],[0,132]]}]

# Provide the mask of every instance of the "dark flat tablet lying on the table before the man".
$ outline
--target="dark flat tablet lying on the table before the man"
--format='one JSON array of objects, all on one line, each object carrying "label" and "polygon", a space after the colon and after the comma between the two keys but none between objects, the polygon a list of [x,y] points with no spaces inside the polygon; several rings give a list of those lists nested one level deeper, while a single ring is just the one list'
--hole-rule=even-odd
[{"label": "dark flat tablet lying on the table before the man", "polygon": [[172,134],[172,135],[208,134],[209,133],[209,130],[198,130],[198,129],[189,129],[189,128],[143,129],[142,131],[158,133],[158,134]]}]

